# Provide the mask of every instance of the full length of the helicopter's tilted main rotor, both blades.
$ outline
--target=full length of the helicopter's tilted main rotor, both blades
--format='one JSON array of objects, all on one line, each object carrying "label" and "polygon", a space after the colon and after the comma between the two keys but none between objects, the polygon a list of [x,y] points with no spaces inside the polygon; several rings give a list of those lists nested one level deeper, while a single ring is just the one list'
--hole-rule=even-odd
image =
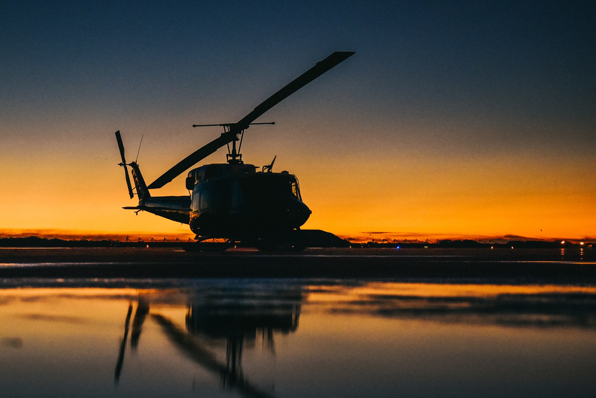
[{"label": "full length of the helicopter's tilted main rotor, both blades", "polygon": [[238,123],[231,125],[228,132],[223,133],[221,136],[219,136],[219,138],[214,139],[213,141],[209,142],[209,144],[204,145],[204,147],[199,148],[197,151],[194,151],[183,160],[179,161],[178,164],[167,170],[167,172],[163,173],[159,178],[156,179],[156,181],[151,182],[147,188],[162,188],[162,186],[166,185],[168,182],[179,176],[182,172],[184,172],[184,170],[189,169],[191,166],[194,166],[194,164],[200,162],[210,154],[217,151],[219,148],[234,141],[236,136],[242,130],[247,129],[250,123],[257,119],[257,117],[262,116],[263,113],[279,104],[289,95],[303,88],[308,83],[312,82],[312,80],[315,80],[317,77],[321,76],[321,74],[330,70],[353,54],[355,54],[355,52],[336,51],[324,60],[319,61],[311,69],[307,70],[305,73],[301,74],[299,77],[285,85],[280,91],[261,102],[259,106],[254,108],[251,113],[240,119]]}]

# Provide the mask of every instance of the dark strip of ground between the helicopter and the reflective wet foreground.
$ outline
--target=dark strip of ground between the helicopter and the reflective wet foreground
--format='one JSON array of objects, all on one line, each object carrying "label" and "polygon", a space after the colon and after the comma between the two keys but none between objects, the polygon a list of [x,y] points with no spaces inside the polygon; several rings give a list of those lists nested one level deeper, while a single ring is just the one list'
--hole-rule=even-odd
[{"label": "dark strip of ground between the helicopter and the reflective wet foreground", "polygon": [[0,248],[0,278],[513,278],[596,283],[596,251],[561,249]]}]

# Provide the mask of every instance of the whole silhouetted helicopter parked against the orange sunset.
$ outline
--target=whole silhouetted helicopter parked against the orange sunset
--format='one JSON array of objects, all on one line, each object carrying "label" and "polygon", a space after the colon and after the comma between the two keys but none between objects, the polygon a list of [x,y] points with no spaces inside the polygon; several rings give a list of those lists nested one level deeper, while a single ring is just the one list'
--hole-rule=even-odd
[{"label": "whole silhouetted helicopter parked against the orange sunset", "polygon": [[[312,212],[302,201],[298,179],[286,170],[279,173],[272,171],[277,156],[261,170],[257,170],[253,164],[244,163],[240,153],[244,131],[253,125],[274,125],[275,122],[255,123],[254,120],[353,54],[355,52],[352,51],[333,52],[236,123],[193,125],[193,128],[219,126],[224,132],[176,163],[149,185],[145,184],[136,163],[138,154],[135,161],[126,163],[122,136],[118,130],[116,141],[122,158],[119,166],[125,169],[131,199],[136,194],[139,200],[138,206],[123,209],[135,210],[137,214],[141,211],[150,212],[188,224],[196,234],[197,244],[222,239],[224,250],[234,242],[254,245],[260,250],[305,248],[300,238],[300,226],[304,225]],[[226,163],[205,164],[188,172],[185,186],[191,192],[190,196],[154,197],[150,194],[150,189],[162,188],[224,146],[228,147]],[[136,192],[132,189],[128,166],[132,169]]]}]

